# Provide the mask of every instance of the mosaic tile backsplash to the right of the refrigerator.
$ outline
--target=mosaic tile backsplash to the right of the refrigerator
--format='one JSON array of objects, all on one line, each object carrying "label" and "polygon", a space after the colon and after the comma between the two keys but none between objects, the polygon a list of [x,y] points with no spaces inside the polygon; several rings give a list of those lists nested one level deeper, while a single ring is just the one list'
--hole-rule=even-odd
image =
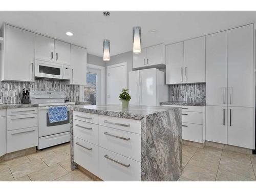
[{"label": "mosaic tile backsplash to the right of the refrigerator", "polygon": [[205,102],[205,83],[172,84],[169,101]]}]

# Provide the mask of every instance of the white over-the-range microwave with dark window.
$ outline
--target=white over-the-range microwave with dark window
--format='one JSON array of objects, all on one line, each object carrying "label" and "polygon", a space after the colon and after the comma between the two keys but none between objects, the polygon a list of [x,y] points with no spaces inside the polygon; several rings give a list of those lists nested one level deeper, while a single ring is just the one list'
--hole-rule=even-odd
[{"label": "white over-the-range microwave with dark window", "polygon": [[36,60],[35,76],[43,78],[63,78],[63,65],[48,61]]}]

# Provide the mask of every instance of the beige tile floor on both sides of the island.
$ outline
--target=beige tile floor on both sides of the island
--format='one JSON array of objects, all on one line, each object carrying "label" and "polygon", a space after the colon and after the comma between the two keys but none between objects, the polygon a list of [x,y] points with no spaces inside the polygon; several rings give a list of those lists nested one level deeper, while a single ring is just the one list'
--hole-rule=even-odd
[{"label": "beige tile floor on both sides of the island", "polygon": [[[256,155],[182,146],[179,181],[255,181]],[[0,163],[0,181],[93,181],[70,169],[70,144]]]}]

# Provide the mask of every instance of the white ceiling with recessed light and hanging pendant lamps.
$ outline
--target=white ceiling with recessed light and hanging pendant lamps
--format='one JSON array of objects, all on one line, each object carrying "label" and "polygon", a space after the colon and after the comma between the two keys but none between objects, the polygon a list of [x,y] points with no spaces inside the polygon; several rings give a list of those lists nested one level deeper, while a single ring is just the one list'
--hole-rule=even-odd
[{"label": "white ceiling with recessed light and hanging pendant lamps", "polygon": [[[132,28],[141,26],[142,47],[198,37],[255,22],[256,11],[0,11],[7,22],[88,48],[102,57],[102,41],[111,41],[111,56],[132,50]],[[148,32],[157,29],[156,33]],[[67,36],[66,32],[74,36]]]}]

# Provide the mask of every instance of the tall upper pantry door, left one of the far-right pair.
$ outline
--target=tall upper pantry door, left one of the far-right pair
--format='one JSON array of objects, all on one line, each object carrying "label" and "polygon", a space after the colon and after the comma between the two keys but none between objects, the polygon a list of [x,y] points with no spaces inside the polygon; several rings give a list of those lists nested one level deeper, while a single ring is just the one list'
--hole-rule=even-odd
[{"label": "tall upper pantry door, left one of the far-right pair", "polygon": [[206,104],[227,105],[227,31],[206,36]]}]

